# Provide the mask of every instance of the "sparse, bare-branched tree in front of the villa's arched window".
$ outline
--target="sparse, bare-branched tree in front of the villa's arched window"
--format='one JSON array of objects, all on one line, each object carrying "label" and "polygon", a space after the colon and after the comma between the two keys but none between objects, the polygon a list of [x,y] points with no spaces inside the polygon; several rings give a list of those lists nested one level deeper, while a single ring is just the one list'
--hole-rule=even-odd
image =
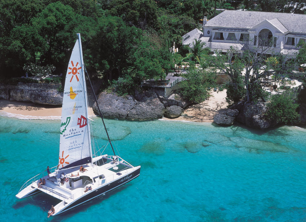
[{"label": "sparse, bare-branched tree in front of the villa's arched window", "polygon": [[[231,47],[226,56],[211,56],[211,62],[216,66],[215,69],[230,77],[229,93],[244,94],[246,102],[257,101],[267,96],[267,92],[263,89],[264,84],[272,83],[275,80],[281,81],[292,75],[292,70],[296,66],[295,61],[290,55],[277,55],[273,51],[273,45],[274,40],[262,38],[259,39],[259,44],[255,47],[244,43],[246,50],[242,53],[238,48]],[[275,59],[267,59],[268,54],[275,54],[278,62],[275,63]],[[234,61],[232,61],[233,56],[235,57]],[[243,75],[242,71],[244,71]],[[269,79],[268,77],[271,75],[274,75],[275,78]],[[243,91],[237,85],[240,78],[244,80]],[[231,90],[237,91],[231,92]]]}]

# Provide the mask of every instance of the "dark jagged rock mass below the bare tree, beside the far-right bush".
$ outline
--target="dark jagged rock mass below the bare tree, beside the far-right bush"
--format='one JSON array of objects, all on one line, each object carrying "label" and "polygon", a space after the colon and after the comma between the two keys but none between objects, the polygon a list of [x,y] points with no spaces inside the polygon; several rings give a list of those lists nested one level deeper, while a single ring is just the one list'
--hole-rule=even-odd
[{"label": "dark jagged rock mass below the bare tree, beside the far-right bush", "polygon": [[249,127],[266,129],[275,125],[263,118],[263,114],[266,110],[267,107],[263,102],[258,102],[256,104],[254,102],[244,103],[237,117],[237,121]]}]

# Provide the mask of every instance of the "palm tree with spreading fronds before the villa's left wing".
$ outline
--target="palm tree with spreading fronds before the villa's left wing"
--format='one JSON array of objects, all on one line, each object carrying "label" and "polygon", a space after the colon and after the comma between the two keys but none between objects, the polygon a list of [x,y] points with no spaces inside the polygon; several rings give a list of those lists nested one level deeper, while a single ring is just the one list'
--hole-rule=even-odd
[{"label": "palm tree with spreading fronds before the villa's left wing", "polygon": [[[186,53],[186,59],[193,59],[194,61],[200,64],[200,61],[204,59],[210,52],[210,48],[204,48],[205,43],[201,42],[201,40],[195,40],[192,42],[192,46],[186,46],[189,53]],[[185,59],[184,58],[184,59]]]}]

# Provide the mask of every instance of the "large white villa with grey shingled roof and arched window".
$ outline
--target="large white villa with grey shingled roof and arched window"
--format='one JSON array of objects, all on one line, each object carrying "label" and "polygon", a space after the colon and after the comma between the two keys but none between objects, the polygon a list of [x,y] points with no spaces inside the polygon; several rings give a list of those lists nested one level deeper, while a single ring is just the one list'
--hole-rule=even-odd
[{"label": "large white villa with grey shingled roof and arched window", "polygon": [[300,41],[306,40],[306,15],[225,10],[207,21],[203,19],[203,31],[193,29],[182,37],[183,45],[197,39],[205,43],[211,52],[227,52],[230,46],[243,51],[246,47],[266,46],[273,41],[271,54],[295,55]]}]

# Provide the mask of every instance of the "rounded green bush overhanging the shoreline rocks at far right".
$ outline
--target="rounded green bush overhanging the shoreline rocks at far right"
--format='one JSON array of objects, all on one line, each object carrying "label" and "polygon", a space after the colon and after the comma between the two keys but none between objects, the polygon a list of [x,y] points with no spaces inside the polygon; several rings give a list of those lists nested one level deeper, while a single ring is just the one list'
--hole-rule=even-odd
[{"label": "rounded green bush overhanging the shoreline rocks at far right", "polygon": [[264,117],[277,123],[293,123],[300,117],[296,111],[298,106],[288,94],[273,95]]}]

